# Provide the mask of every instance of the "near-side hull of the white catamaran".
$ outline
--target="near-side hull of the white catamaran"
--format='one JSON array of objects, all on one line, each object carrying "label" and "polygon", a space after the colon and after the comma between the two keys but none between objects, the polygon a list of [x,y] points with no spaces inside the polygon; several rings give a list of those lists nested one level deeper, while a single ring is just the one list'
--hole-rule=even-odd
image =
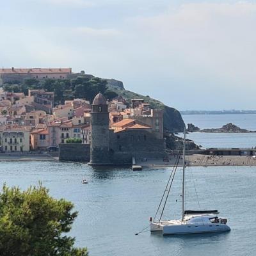
[{"label": "near-side hull of the white catamaran", "polygon": [[175,234],[198,234],[198,233],[211,233],[211,232],[227,232],[230,231],[230,227],[225,224],[181,224],[181,225],[164,225],[163,235],[175,235]]}]

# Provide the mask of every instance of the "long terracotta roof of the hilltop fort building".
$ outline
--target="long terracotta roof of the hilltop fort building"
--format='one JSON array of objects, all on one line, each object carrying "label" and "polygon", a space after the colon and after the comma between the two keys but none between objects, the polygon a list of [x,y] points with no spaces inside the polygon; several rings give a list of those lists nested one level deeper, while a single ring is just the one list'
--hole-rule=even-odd
[{"label": "long terracotta roof of the hilltop fort building", "polygon": [[71,72],[72,68],[0,68],[2,74],[66,74]]}]

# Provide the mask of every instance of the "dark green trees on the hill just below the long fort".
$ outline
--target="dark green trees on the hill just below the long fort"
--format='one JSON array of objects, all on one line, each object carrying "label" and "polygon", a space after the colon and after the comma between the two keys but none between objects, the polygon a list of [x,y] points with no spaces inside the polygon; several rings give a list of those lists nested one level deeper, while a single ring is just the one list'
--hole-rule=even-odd
[{"label": "dark green trees on the hill just below the long fort", "polygon": [[82,98],[93,101],[99,92],[105,94],[111,100],[116,97],[116,93],[108,90],[107,81],[99,77],[88,78],[78,76],[74,79],[26,79],[23,83],[4,84],[4,91],[24,92],[28,95],[28,89],[44,89],[45,92],[54,92],[55,104],[63,104],[65,100]]}]

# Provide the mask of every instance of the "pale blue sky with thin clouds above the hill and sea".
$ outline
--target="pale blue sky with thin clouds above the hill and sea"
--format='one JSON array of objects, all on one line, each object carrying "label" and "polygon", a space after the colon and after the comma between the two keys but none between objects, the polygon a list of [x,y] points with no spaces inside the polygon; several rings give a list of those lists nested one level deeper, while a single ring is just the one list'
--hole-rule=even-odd
[{"label": "pale blue sky with thin clouds above the hill and sea", "polygon": [[256,1],[0,0],[1,67],[72,67],[179,110],[256,109]]}]

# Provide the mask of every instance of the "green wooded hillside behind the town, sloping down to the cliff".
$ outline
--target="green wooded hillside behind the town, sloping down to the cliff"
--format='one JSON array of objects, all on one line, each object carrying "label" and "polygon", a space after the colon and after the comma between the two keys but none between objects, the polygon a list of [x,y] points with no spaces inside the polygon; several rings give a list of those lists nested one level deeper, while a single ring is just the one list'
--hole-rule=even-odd
[{"label": "green wooded hillside behind the town, sloping down to the cliff", "polygon": [[122,82],[115,79],[101,79],[99,77],[87,77],[82,74],[72,79],[27,79],[23,83],[6,83],[3,89],[8,92],[24,92],[28,95],[28,89],[44,89],[45,92],[54,92],[54,104],[63,104],[65,100],[82,98],[92,103],[98,92],[108,100],[121,95],[127,103],[131,99],[144,99],[151,108],[164,110],[164,130],[168,132],[181,132],[184,129],[182,117],[175,108],[165,106],[163,102],[140,95],[124,89]]}]

